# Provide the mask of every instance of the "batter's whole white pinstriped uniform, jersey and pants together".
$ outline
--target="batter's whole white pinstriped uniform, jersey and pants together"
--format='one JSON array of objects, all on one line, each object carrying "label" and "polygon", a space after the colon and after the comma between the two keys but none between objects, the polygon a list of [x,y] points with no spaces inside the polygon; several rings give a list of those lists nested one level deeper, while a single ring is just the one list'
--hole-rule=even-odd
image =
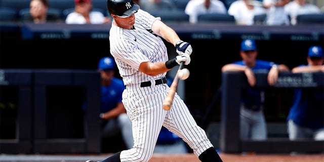
[{"label": "batter's whole white pinstriped uniform, jersey and pants together", "polygon": [[[183,100],[175,94],[169,111],[163,109],[170,87],[155,85],[154,80],[166,75],[147,75],[139,71],[142,62],[152,63],[168,60],[163,40],[151,31],[155,18],[143,10],[135,13],[135,29],[110,28],[110,53],[114,57],[120,75],[127,88],[123,92],[123,104],[132,120],[134,146],[120,152],[121,162],[148,161],[153,154],[156,140],[162,126],[181,137],[199,156],[212,143],[206,132],[197,126]],[[139,87],[150,80],[150,87]]]}]

